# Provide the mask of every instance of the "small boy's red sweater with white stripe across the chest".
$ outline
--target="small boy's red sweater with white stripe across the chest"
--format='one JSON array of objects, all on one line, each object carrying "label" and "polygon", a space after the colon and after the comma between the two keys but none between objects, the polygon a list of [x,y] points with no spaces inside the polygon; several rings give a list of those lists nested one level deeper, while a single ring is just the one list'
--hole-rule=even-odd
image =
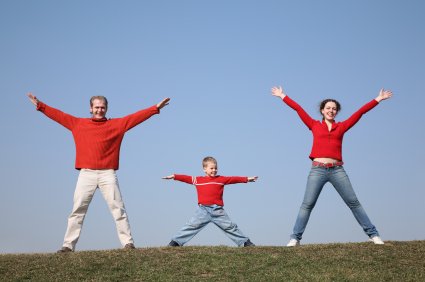
[{"label": "small boy's red sweater with white stripe across the chest", "polygon": [[198,192],[198,204],[200,205],[219,205],[224,206],[223,190],[224,185],[247,183],[248,177],[241,176],[188,176],[174,174],[174,180],[193,184]]}]

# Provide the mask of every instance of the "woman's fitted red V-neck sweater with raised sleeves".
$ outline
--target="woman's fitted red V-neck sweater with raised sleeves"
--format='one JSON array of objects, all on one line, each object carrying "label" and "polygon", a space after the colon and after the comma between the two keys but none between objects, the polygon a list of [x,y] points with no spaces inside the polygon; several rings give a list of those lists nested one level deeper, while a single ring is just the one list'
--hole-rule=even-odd
[{"label": "woman's fitted red V-neck sweater with raised sleeves", "polygon": [[313,134],[313,146],[311,148],[310,159],[314,158],[332,158],[342,161],[342,139],[345,132],[353,127],[362,117],[363,114],[373,109],[378,102],[373,99],[369,103],[361,107],[351,117],[342,122],[334,122],[332,129],[329,131],[324,120],[318,121],[312,119],[300,105],[294,100],[285,96],[283,101],[292,109],[297,111],[301,120],[311,130]]}]

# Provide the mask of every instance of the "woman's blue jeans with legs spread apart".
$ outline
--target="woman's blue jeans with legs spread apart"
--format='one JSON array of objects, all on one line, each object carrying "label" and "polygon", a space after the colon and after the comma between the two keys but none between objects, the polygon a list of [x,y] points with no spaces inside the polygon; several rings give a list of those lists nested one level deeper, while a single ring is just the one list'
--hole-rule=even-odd
[{"label": "woman's blue jeans with legs spread apart", "polygon": [[369,217],[357,199],[356,193],[351,186],[350,179],[344,168],[342,166],[332,168],[312,166],[307,180],[304,200],[301,204],[291,239],[301,240],[311,211],[316,205],[323,186],[325,186],[327,182],[330,182],[334,186],[345,204],[351,209],[351,212],[364,232],[369,237],[379,236],[376,227],[370,222]]}]

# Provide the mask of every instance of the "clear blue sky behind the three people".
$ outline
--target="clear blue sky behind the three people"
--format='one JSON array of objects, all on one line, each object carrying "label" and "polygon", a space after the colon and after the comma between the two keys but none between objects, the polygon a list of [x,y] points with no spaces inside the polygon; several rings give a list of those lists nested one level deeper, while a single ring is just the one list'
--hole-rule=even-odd
[{"label": "clear blue sky behind the three people", "polygon": [[[127,133],[118,171],[135,243],[152,247],[196,208],[193,186],[161,177],[202,175],[207,155],[222,175],[259,176],[227,186],[225,209],[257,245],[285,245],[312,137],[270,88],[317,119],[336,98],[339,120],[391,89],[345,135],[345,169],[384,240],[424,240],[424,12],[420,0],[1,1],[0,252],[59,249],[78,176],[72,135],[28,91],[80,117],[92,95],[109,99],[109,117],[171,97]],[[303,243],[366,240],[326,185]],[[210,225],[189,245],[233,243]],[[97,192],[77,250],[119,247]]]}]

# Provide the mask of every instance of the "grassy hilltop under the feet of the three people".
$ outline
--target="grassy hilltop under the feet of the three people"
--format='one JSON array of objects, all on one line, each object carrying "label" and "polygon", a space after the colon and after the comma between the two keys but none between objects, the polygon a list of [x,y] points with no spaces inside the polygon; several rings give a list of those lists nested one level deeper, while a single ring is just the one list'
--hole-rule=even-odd
[{"label": "grassy hilltop under the feet of the three people", "polygon": [[425,281],[425,241],[2,254],[1,281]]}]

